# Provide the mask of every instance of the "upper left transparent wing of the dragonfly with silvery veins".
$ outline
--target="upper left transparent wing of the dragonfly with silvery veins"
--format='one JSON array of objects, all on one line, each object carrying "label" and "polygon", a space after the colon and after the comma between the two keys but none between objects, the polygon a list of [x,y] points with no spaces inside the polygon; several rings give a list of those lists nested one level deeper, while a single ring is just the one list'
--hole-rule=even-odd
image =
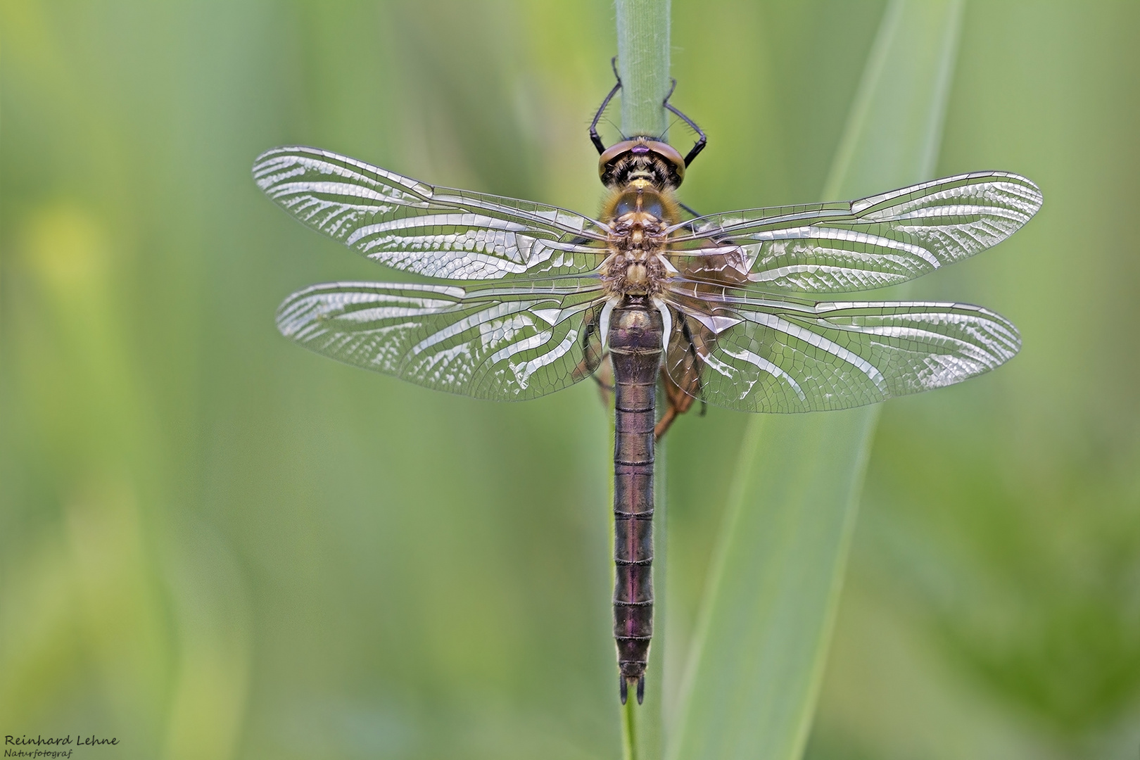
[{"label": "upper left transparent wing of the dragonfly with silvery veins", "polygon": [[317,148],[274,148],[253,178],[309,227],[393,269],[445,279],[576,275],[605,251],[598,222],[529,201],[432,187]]}]

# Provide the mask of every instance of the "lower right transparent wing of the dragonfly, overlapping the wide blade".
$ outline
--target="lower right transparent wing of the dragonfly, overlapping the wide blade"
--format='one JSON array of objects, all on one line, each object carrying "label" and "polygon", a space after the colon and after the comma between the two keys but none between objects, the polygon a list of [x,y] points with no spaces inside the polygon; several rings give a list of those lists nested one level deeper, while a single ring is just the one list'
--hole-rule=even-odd
[{"label": "lower right transparent wing of the dragonfly, overlapping the wide blade", "polygon": [[670,377],[693,387],[695,369],[693,395],[742,411],[844,409],[953,385],[1021,344],[1009,320],[963,303],[735,296],[710,316],[673,302],[698,329],[690,345],[670,346]]}]

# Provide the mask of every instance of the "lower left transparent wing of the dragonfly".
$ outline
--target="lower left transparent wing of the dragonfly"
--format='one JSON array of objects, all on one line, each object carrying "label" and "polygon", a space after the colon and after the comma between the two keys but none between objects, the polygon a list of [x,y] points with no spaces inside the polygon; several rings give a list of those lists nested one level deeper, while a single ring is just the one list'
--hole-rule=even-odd
[{"label": "lower left transparent wing of the dragonfly", "polygon": [[514,401],[563,389],[597,367],[601,310],[596,281],[526,288],[332,283],[285,299],[277,328],[350,365]]}]

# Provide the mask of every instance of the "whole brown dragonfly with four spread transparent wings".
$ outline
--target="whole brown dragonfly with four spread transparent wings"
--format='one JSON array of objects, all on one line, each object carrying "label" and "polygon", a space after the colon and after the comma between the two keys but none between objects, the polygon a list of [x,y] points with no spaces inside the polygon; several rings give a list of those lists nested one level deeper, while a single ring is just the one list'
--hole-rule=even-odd
[{"label": "whole brown dragonfly with four spread transparent wings", "polygon": [[[674,87],[676,82],[674,82]],[[293,293],[283,335],[418,385],[518,401],[612,377],[613,634],[619,696],[637,702],[653,635],[653,451],[694,401],[752,412],[845,409],[980,375],[1020,348],[982,307],[841,301],[996,245],[1041,206],[1008,172],[946,177],[850,202],[686,214],[682,156],[634,134],[600,154],[598,216],[439,187],[347,156],[280,147],[253,165],[295,219],[430,283]],[[826,296],[816,300],[816,296]],[[657,410],[661,387],[662,411]]]}]

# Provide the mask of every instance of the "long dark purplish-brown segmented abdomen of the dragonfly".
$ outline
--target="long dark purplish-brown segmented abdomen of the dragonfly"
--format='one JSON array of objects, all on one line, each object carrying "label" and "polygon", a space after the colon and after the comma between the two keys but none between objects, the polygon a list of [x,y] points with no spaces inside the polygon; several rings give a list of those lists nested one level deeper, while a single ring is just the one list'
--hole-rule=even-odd
[{"label": "long dark purplish-brown segmented abdomen of the dragonfly", "polygon": [[610,317],[609,348],[614,381],[613,444],[613,638],[628,683],[645,688],[653,636],[653,425],[663,325],[646,299],[629,296]]}]

